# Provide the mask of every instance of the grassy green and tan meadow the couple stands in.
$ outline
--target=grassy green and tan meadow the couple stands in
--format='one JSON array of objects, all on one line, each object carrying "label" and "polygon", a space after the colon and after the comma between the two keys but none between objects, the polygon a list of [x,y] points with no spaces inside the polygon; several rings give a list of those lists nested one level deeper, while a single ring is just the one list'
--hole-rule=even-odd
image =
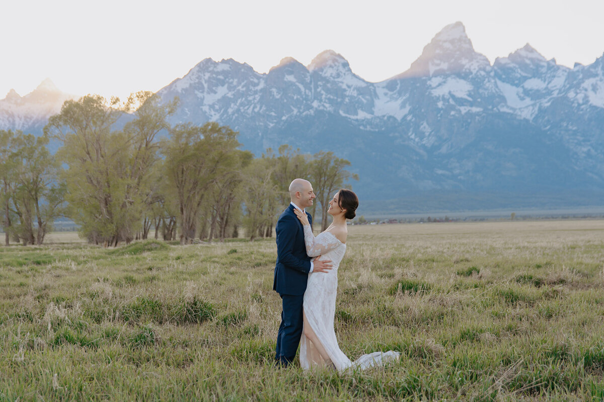
[{"label": "grassy green and tan meadow the couple stands in", "polygon": [[339,344],[402,353],[352,374],[274,368],[274,239],[48,239],[0,248],[0,401],[604,400],[602,220],[350,227]]}]

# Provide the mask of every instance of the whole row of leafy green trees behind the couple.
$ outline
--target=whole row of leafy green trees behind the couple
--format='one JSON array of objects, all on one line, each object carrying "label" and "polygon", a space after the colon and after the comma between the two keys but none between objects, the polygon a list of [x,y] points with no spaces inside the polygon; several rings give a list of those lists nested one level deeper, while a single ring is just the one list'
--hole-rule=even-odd
[{"label": "whole row of leafy green trees behind the couple", "polygon": [[[239,149],[238,133],[216,122],[170,125],[178,98],[138,92],[120,102],[69,100],[42,136],[0,130],[0,202],[5,243],[42,244],[56,218],[104,247],[147,239],[187,244],[272,236],[295,177],[313,183],[321,227],[333,193],[358,176],[333,152],[282,145],[261,157]],[[118,121],[126,121],[118,126]],[[48,151],[50,140],[62,145]]]}]

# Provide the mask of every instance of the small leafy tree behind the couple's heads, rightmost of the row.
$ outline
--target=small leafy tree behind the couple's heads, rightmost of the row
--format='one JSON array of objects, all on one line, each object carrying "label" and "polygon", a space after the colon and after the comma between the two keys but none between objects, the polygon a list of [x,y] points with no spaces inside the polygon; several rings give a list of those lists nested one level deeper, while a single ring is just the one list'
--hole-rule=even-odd
[{"label": "small leafy tree behind the couple's heads, rightmost of the row", "polygon": [[[336,157],[333,152],[318,152],[313,155],[310,161],[310,183],[315,190],[316,199],[321,204],[321,230],[327,228],[327,209],[329,201],[333,198],[336,190],[344,187],[345,182],[350,178],[359,180],[357,174],[352,174],[346,170],[350,162]],[[315,211],[312,212],[313,219]]]}]

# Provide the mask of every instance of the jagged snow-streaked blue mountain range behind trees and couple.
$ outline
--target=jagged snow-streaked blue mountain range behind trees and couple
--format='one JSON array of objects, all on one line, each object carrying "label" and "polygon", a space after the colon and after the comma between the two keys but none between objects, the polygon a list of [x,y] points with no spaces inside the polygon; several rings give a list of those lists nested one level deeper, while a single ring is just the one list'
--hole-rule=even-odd
[{"label": "jagged snow-streaked blue mountain range behind trees and couple", "polygon": [[[308,66],[286,57],[267,74],[207,58],[158,94],[179,97],[173,123],[230,125],[256,155],[289,144],[349,159],[364,199],[505,193],[532,196],[525,206],[539,196],[572,206],[604,193],[604,56],[567,68],[527,44],[490,64],[460,22],[379,83],[328,50]],[[25,125],[8,121],[6,105],[27,96],[0,101],[0,128]],[[472,207],[502,207],[496,198]]]}]

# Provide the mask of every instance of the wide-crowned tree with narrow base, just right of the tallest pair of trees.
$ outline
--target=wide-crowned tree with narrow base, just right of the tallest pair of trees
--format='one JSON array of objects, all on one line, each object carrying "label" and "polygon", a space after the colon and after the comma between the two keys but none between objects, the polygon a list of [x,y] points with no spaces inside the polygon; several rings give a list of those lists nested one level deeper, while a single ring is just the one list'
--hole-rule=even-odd
[{"label": "wide-crowned tree with narrow base, just right of the tallest pair of trees", "polygon": [[177,125],[162,143],[167,194],[178,204],[182,244],[195,238],[204,202],[216,182],[229,174],[239,145],[237,133],[216,122]]}]

